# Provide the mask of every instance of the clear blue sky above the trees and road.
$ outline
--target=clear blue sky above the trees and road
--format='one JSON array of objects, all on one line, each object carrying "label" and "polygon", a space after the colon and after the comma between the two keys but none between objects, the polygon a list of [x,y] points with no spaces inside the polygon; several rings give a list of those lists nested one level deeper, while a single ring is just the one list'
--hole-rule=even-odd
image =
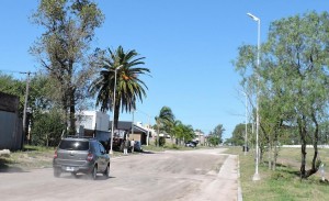
[{"label": "clear blue sky above the trees and road", "polygon": [[[151,77],[144,77],[147,98],[137,104],[135,121],[154,124],[163,105],[178,120],[209,133],[216,125],[230,137],[245,122],[243,96],[238,92],[239,75],[231,60],[243,44],[257,45],[257,23],[261,19],[261,41],[275,20],[307,11],[328,10],[326,1],[309,0],[98,0],[105,22],[97,30],[92,48],[136,49],[145,56]],[[29,54],[42,29],[29,21],[37,1],[1,2],[0,70],[35,71],[41,65]],[[25,79],[23,75],[12,74]],[[132,120],[122,114],[121,120]]]}]

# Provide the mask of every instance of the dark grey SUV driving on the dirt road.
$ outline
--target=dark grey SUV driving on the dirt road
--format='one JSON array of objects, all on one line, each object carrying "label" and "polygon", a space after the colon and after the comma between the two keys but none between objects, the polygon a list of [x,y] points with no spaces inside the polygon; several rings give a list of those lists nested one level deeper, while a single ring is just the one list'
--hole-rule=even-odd
[{"label": "dark grey SUV driving on the dirt road", "polygon": [[110,177],[110,156],[103,145],[94,138],[63,138],[53,159],[54,176],[71,172],[73,176],[82,172],[92,179],[101,172]]}]

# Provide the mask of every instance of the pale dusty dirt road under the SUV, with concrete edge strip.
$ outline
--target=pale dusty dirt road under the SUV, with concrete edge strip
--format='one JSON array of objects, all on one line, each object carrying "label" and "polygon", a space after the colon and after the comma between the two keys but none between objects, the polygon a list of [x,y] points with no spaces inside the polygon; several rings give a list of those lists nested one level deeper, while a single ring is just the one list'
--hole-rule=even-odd
[{"label": "pale dusty dirt road under the SUV, with concrete edge strip", "polygon": [[129,155],[111,159],[111,177],[90,180],[53,169],[0,174],[0,200],[238,200],[237,157],[224,149]]}]

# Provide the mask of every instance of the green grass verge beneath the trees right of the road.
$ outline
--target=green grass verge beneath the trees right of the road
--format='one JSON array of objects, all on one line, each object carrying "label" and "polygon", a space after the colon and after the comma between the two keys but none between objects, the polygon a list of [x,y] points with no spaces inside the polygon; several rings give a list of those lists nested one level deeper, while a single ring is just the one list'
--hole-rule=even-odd
[{"label": "green grass verge beneath the trees right of the road", "polygon": [[[321,160],[329,165],[329,150],[319,149]],[[300,148],[282,148],[277,158],[276,170],[269,170],[268,163],[260,163],[260,181],[252,181],[254,175],[254,157],[252,150],[247,156],[243,155],[241,147],[229,148],[229,154],[239,155],[240,160],[240,181],[242,198],[246,201],[266,200],[266,201],[321,201],[329,198],[329,183],[321,181],[320,172],[310,176],[308,179],[299,179]],[[307,169],[309,168],[313,149],[308,149]],[[266,153],[264,154],[266,159]],[[325,171],[329,171],[326,169]],[[329,175],[325,175],[325,177]]]}]

